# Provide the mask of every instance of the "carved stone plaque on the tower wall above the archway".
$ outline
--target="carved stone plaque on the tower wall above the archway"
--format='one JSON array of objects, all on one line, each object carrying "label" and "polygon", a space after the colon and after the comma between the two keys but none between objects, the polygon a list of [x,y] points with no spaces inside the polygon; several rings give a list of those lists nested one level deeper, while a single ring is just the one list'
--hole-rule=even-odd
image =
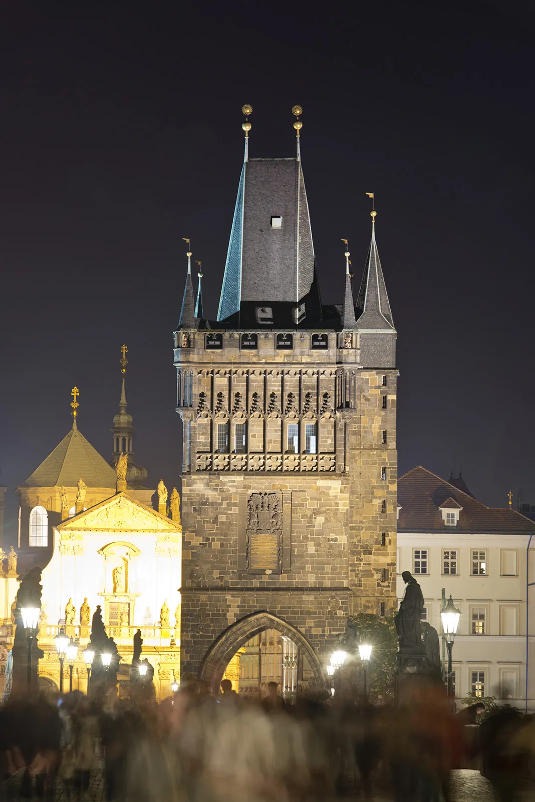
[{"label": "carved stone plaque on the tower wall above the archway", "polygon": [[280,492],[251,493],[247,500],[247,570],[280,573],[283,504]]}]

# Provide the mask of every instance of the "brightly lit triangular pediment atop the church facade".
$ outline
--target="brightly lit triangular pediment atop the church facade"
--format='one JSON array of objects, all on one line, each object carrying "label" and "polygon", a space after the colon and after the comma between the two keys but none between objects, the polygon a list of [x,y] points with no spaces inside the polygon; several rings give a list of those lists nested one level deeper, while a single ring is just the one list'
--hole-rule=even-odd
[{"label": "brightly lit triangular pediment atop the church facade", "polygon": [[154,509],[131,499],[126,493],[117,493],[111,498],[95,504],[95,507],[79,512],[58,526],[59,532],[168,532],[182,531],[175,521],[160,515]]}]

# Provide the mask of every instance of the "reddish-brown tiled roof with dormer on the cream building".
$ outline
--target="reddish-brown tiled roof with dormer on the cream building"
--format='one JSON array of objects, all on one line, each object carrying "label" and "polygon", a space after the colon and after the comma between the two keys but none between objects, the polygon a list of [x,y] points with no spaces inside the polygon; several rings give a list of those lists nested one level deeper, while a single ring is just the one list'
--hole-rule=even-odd
[{"label": "reddish-brown tiled roof with dormer on the cream building", "polygon": [[462,492],[453,484],[449,484],[440,476],[422,468],[400,476],[397,483],[397,500],[400,504],[400,516],[397,522],[398,532],[444,532],[446,526],[442,520],[440,505],[446,507],[446,501],[455,500],[462,507],[459,515],[457,532],[468,533],[532,533],[535,525],[513,509],[485,507],[481,501]]}]

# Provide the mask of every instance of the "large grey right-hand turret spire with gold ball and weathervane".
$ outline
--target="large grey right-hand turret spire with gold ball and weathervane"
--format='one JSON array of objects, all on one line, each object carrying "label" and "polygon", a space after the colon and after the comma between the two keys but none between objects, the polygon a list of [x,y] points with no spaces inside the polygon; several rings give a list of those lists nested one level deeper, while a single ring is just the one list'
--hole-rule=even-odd
[{"label": "large grey right-hand turret spire with gold ball and weathervane", "polygon": [[[373,198],[373,192],[367,192]],[[356,318],[359,330],[392,331],[394,323],[388,302],[388,294],[384,284],[383,271],[380,266],[379,253],[376,244],[376,210],[370,212],[372,216],[372,241],[368,250],[368,259],[364,268],[364,275],[360,283],[358,298],[356,299]]]}]

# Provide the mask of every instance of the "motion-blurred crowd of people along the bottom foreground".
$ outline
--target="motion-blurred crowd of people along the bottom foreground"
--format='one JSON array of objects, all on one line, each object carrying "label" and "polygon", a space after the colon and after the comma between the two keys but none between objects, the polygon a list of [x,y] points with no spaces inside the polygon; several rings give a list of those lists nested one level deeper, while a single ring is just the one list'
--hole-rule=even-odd
[{"label": "motion-blurred crowd of people along the bottom foreground", "polygon": [[4,796],[52,802],[61,789],[89,802],[98,768],[109,802],[449,802],[450,770],[476,757],[479,735],[501,799],[535,779],[535,720],[511,708],[466,727],[482,707],[453,715],[432,690],[407,707],[320,692],[288,704],[276,683],[256,702],[228,681],[221,690],[215,698],[185,677],[161,704],[76,691],[55,703],[13,699],[0,710]]}]

